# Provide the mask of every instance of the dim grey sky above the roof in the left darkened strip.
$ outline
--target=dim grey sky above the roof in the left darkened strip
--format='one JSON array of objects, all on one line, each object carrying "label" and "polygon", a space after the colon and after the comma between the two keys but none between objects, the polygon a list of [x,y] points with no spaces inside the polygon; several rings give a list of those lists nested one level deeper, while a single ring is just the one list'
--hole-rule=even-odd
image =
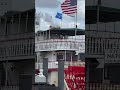
[{"label": "dim grey sky above the roof in the left darkened strip", "polygon": [[9,11],[24,12],[34,9],[34,3],[34,0],[0,0],[0,16]]}]

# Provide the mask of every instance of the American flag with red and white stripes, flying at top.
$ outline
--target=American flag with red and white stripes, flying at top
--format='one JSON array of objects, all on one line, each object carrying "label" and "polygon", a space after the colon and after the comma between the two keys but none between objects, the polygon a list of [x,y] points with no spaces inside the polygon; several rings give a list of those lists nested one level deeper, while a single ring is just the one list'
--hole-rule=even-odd
[{"label": "American flag with red and white stripes, flying at top", "polygon": [[65,0],[61,4],[61,8],[64,14],[74,14],[77,13],[77,0]]}]

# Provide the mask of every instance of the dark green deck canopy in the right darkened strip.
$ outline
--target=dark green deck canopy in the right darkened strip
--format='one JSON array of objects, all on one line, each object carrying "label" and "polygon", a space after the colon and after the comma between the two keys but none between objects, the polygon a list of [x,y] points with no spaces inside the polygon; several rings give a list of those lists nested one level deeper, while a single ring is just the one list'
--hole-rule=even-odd
[{"label": "dark green deck canopy in the right darkened strip", "polygon": [[[98,6],[86,6],[86,24],[94,24],[97,21],[97,7]],[[120,9],[110,7],[99,7],[99,21],[100,22],[116,22],[120,21]]]}]

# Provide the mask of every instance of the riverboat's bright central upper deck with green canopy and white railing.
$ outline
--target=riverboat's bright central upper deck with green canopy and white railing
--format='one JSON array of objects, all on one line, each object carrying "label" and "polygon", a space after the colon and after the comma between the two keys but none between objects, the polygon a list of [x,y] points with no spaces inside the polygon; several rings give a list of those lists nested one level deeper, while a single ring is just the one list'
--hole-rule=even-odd
[{"label": "riverboat's bright central upper deck with green canopy and white railing", "polygon": [[39,31],[35,37],[35,51],[85,50],[85,31],[82,29],[56,29]]}]

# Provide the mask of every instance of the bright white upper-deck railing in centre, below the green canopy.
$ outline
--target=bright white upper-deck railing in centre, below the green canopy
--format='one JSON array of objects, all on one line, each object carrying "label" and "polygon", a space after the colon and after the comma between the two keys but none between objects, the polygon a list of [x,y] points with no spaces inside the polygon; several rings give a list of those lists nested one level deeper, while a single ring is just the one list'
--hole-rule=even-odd
[{"label": "bright white upper-deck railing in centre, below the green canopy", "polygon": [[53,50],[85,50],[84,40],[75,39],[51,39],[35,43],[35,51],[53,51]]}]

